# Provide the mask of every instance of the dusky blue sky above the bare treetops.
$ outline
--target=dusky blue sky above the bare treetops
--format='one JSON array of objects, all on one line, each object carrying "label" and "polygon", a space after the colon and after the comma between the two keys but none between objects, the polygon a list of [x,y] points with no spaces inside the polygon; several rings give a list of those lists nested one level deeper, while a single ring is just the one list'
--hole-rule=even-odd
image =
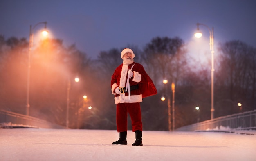
[{"label": "dusky blue sky above the bare treetops", "polygon": [[[255,0],[0,0],[5,38],[29,39],[29,26],[43,21],[51,37],[76,44],[92,58],[128,44],[142,49],[157,36],[189,44],[197,22],[214,27],[216,46],[240,40],[256,47]],[[209,45],[209,31],[200,30]]]}]

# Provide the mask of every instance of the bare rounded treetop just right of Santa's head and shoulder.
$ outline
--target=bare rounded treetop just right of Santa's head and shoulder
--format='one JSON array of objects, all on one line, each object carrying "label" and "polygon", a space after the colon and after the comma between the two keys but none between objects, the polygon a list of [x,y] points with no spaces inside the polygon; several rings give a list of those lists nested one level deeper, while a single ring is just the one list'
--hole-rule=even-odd
[{"label": "bare rounded treetop just right of Santa's head and shoulder", "polygon": [[[182,39],[175,37],[156,37],[146,44],[141,56],[147,71],[153,76],[153,81],[159,87],[164,78],[169,81],[180,80],[180,74],[185,71],[186,49]],[[161,85],[161,84],[160,84]]]}]

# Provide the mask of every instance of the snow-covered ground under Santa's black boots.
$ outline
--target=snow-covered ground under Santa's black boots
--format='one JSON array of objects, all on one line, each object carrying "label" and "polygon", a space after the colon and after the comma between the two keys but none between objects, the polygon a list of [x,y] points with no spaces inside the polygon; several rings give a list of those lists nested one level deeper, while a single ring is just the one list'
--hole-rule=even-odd
[{"label": "snow-covered ground under Santa's black boots", "polygon": [[[252,131],[251,131],[252,133]],[[112,145],[114,130],[0,129],[1,161],[256,161],[256,135],[143,131],[143,146]]]}]

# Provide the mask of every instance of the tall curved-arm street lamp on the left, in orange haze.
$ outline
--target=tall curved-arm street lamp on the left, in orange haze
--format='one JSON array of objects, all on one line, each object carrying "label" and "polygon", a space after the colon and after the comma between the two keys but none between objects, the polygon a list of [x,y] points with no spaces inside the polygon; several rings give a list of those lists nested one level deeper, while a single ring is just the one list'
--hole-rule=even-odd
[{"label": "tall curved-arm street lamp on the left, in orange haze", "polygon": [[27,67],[27,100],[26,100],[26,115],[29,115],[29,87],[30,87],[30,68],[31,68],[31,54],[32,54],[32,47],[33,47],[33,39],[34,39],[34,28],[39,24],[45,24],[45,28],[42,31],[42,34],[46,36],[48,34],[48,31],[46,30],[46,24],[47,22],[39,22],[34,27],[30,25],[30,31],[29,31],[29,62]]}]

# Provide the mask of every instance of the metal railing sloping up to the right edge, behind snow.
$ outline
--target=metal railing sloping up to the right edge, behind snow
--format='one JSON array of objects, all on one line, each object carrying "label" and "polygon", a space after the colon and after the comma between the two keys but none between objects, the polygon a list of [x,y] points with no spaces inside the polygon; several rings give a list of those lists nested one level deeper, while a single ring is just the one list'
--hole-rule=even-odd
[{"label": "metal railing sloping up to the right edge, behind snow", "polygon": [[182,126],[175,131],[198,130],[249,130],[256,129],[256,110],[218,117],[212,120],[198,122],[188,126]]}]

